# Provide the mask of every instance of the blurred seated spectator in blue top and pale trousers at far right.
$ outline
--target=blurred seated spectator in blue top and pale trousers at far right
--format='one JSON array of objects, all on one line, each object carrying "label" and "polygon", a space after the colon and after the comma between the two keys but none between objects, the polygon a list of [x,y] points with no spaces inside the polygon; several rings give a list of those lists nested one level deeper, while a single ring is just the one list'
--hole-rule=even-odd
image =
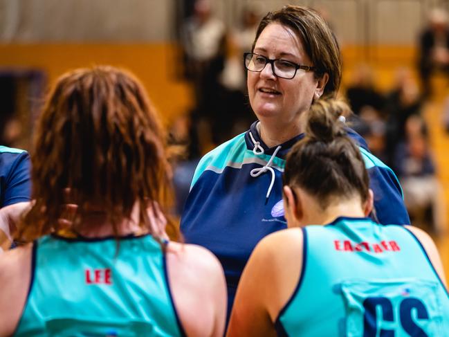
[{"label": "blurred seated spectator in blue top and pale trousers at far right", "polygon": [[396,149],[396,170],[412,224],[430,224],[435,233],[443,233],[446,227],[443,191],[435,175],[428,129],[421,116],[410,116],[405,123],[405,141]]}]

